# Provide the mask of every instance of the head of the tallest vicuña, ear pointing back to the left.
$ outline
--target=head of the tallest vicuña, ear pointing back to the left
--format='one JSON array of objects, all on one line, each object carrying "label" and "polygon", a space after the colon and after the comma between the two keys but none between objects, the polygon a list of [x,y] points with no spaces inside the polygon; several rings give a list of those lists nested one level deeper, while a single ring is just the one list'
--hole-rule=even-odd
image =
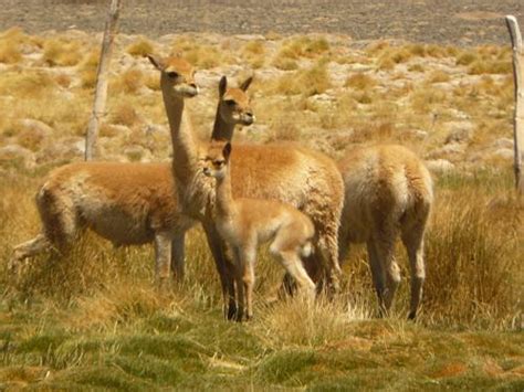
[{"label": "head of the tallest vicu\u00f1a, ear pointing back to the left", "polygon": [[179,56],[160,57],[148,54],[147,59],[160,71],[160,86],[170,97],[192,98],[198,95],[195,68]]}]

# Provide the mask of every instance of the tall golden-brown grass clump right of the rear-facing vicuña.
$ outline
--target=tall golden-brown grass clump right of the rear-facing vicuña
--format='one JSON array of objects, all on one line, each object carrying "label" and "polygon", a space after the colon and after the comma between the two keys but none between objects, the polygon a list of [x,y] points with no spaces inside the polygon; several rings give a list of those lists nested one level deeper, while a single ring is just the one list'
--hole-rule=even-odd
[{"label": "tall golden-brown grass clump right of the rear-facing vicu\u00f1a", "polygon": [[478,189],[438,195],[426,242],[425,308],[432,317],[497,324],[517,315],[523,212],[511,200],[490,202]]}]

